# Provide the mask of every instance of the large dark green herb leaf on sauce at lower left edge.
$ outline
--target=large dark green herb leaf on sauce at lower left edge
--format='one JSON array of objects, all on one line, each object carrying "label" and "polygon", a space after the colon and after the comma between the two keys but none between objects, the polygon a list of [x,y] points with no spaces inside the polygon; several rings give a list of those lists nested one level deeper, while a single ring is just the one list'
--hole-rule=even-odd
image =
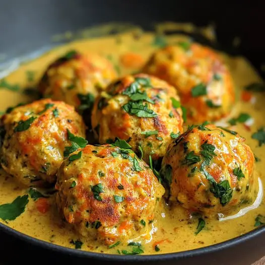
[{"label": "large dark green herb leaf on sauce at lower left edge", "polygon": [[15,220],[22,213],[24,213],[26,205],[29,202],[29,195],[18,196],[10,204],[0,205],[0,218],[4,221]]}]

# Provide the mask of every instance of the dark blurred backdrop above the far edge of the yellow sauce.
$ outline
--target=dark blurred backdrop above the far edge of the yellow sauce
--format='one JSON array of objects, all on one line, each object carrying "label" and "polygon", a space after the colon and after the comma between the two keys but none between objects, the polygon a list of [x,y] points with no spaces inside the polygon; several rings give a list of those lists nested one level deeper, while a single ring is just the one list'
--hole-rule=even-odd
[{"label": "dark blurred backdrop above the far edge of the yellow sauce", "polygon": [[0,53],[16,56],[38,49],[54,34],[107,22],[130,22],[152,29],[158,21],[215,22],[229,48],[240,36],[239,52],[257,68],[265,60],[265,1],[209,0],[4,0],[0,1]]}]

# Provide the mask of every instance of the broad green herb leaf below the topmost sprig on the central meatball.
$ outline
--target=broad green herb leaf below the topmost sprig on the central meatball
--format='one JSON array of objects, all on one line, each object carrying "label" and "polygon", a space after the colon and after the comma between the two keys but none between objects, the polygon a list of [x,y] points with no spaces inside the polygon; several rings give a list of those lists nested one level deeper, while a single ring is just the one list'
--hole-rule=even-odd
[{"label": "broad green herb leaf below the topmost sprig on the central meatball", "polygon": [[149,109],[147,104],[143,105],[142,101],[129,101],[127,104],[123,105],[122,108],[130,115],[146,118],[157,117],[154,110]]}]

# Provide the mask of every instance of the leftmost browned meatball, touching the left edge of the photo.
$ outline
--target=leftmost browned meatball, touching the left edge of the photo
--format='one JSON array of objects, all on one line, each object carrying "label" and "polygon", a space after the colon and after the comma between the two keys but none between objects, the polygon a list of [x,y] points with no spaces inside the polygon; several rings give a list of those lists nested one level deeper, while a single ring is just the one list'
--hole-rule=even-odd
[{"label": "leftmost browned meatball, touching the left edge of the photo", "polygon": [[1,122],[6,132],[1,165],[28,186],[55,182],[63,157],[86,142],[79,138],[85,137],[81,116],[60,101],[43,99],[17,107]]}]

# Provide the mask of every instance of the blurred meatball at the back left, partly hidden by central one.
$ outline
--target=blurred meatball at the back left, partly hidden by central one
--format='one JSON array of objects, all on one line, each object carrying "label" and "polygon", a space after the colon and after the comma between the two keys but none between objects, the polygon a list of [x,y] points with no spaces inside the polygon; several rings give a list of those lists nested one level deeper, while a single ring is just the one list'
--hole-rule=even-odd
[{"label": "blurred meatball at the back left, partly hidden by central one", "polygon": [[98,91],[105,89],[115,77],[112,64],[104,57],[70,51],[49,65],[39,90],[44,97],[76,108],[89,108]]}]

